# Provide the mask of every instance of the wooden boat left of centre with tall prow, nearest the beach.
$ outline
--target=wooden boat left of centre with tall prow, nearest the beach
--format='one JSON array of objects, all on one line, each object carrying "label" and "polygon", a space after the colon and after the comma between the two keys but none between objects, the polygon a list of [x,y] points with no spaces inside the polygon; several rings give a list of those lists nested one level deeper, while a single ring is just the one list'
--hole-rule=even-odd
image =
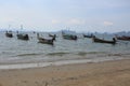
[{"label": "wooden boat left of centre with tall prow, nearest the beach", "polygon": [[39,40],[38,43],[51,44],[51,45],[53,45],[53,42],[54,42],[54,39],[55,39],[55,38],[52,38],[52,39],[40,38],[40,37],[39,37],[39,33],[37,33],[37,38],[38,38],[38,40]]}]

